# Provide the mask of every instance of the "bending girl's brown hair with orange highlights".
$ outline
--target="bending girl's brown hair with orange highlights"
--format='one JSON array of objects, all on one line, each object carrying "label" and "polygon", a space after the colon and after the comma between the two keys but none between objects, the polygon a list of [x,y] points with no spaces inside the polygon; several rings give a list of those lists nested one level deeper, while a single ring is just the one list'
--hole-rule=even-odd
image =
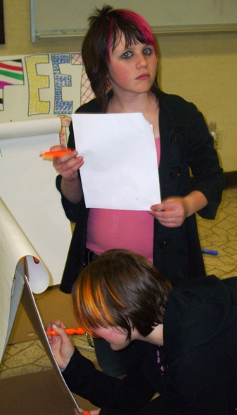
[{"label": "bending girl's brown hair with orange highlights", "polygon": [[110,249],[80,273],[72,289],[75,316],[94,336],[93,328],[132,328],[148,336],[162,324],[170,282],[143,256]]}]

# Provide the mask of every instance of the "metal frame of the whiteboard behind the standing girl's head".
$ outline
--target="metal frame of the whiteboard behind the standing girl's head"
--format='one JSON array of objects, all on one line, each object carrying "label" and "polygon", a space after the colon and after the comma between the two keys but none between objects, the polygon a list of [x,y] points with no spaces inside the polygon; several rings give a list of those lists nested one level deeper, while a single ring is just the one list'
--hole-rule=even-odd
[{"label": "metal frame of the whiteboard behind the standing girl's head", "polygon": [[[35,1],[30,0],[30,19],[31,19],[31,40],[45,41],[65,38],[83,38],[87,32],[84,27],[79,29],[57,29],[57,30],[43,30],[39,32],[36,30],[36,16],[35,16]],[[181,34],[218,34],[218,33],[233,33],[237,32],[237,23],[234,24],[216,24],[216,25],[164,25],[164,26],[150,26],[155,35],[181,35]]]}]

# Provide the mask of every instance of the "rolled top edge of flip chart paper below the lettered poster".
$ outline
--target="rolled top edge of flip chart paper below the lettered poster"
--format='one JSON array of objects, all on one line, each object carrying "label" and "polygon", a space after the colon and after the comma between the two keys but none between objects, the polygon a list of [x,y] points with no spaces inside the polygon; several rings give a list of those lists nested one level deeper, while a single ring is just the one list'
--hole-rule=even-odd
[{"label": "rolled top edge of flip chart paper below the lettered poster", "polygon": [[60,133],[61,130],[60,117],[1,122],[0,125],[0,139],[42,136]]}]

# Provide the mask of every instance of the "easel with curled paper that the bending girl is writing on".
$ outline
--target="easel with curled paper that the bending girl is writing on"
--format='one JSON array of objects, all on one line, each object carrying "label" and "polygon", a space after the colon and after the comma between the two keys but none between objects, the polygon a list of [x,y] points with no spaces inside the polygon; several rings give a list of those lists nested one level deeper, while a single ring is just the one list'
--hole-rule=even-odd
[{"label": "easel with curled paper that the bending girl is writing on", "polygon": [[[37,272],[32,258],[41,264]],[[79,410],[53,356],[32,294],[32,287],[39,293],[48,284],[46,268],[0,198],[0,364],[20,303],[52,364],[46,371],[0,380],[4,415],[14,415],[16,410],[24,415],[75,415],[74,410]]]}]

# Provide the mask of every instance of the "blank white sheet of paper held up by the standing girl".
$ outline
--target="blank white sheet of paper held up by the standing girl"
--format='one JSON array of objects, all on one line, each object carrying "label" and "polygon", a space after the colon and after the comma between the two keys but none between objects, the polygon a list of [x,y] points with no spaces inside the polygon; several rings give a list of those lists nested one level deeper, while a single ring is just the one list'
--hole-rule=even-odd
[{"label": "blank white sheet of paper held up by the standing girl", "polygon": [[148,211],[160,203],[153,130],[141,113],[72,114],[87,207]]}]

